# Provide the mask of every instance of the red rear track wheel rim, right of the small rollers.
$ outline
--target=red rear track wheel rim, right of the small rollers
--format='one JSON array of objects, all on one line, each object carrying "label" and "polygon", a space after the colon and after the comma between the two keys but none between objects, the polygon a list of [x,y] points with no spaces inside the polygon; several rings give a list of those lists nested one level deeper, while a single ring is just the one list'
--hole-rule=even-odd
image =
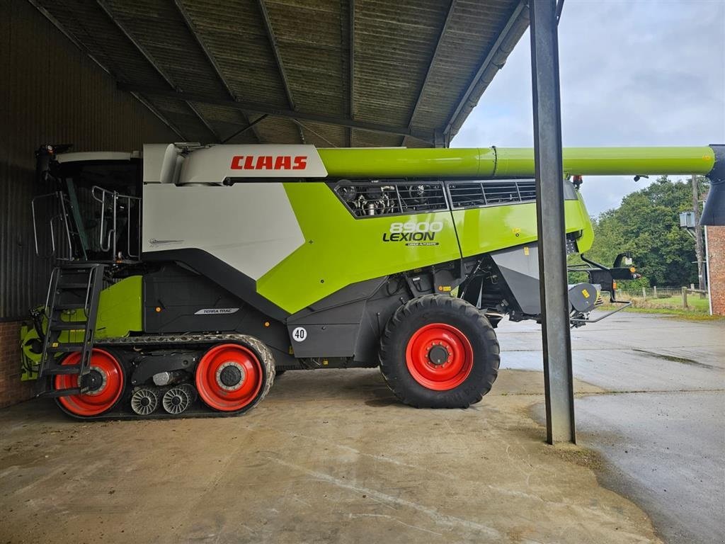
[{"label": "red rear track wheel rim, right of the small rollers", "polygon": [[[241,376],[236,384],[222,382],[225,368]],[[196,367],[196,390],[210,408],[223,412],[241,410],[257,397],[262,389],[262,364],[249,348],[237,344],[212,347]]]}]

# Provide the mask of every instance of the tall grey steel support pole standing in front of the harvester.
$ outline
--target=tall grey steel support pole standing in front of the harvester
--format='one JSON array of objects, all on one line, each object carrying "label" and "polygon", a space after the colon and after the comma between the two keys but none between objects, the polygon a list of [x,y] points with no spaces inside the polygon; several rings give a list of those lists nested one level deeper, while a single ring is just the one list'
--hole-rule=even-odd
[{"label": "tall grey steel support pole standing in front of the harvester", "polygon": [[576,441],[566,273],[556,1],[532,1],[529,13],[547,442],[553,444]]}]

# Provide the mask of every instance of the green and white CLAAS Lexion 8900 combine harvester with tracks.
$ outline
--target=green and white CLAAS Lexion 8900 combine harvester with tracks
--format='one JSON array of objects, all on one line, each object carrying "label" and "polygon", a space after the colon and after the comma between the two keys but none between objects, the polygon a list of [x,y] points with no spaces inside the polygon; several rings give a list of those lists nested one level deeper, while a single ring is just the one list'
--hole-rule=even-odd
[{"label": "green and white CLAAS Lexion 8900 combine harvester with tracks", "polygon": [[[722,221],[724,149],[564,150],[566,251],[589,263],[573,326],[634,273],[584,256],[581,176],[707,175]],[[499,321],[541,317],[533,176],[532,149],[43,146],[36,250],[56,266],[24,376],[81,419],[242,413],[283,371],[376,366],[403,403],[467,407]]]}]

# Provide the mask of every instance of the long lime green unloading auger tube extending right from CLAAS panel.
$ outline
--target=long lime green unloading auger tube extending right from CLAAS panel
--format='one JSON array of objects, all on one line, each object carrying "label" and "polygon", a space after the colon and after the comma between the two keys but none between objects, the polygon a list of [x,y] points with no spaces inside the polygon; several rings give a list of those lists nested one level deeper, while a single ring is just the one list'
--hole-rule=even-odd
[{"label": "long lime green unloading auger tube extending right from CLAAS panel", "polygon": [[[318,149],[331,177],[445,178],[534,177],[534,149]],[[701,147],[566,147],[567,174],[616,176],[634,174],[710,173],[715,153]]]}]

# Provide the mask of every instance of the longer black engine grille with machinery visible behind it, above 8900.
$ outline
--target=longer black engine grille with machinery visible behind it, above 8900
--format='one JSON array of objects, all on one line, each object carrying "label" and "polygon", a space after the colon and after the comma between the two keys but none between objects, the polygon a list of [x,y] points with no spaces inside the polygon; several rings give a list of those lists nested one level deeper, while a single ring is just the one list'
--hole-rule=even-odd
[{"label": "longer black engine grille with machinery visible behind it, above 8900", "polygon": [[441,183],[341,182],[335,192],[355,217],[447,210]]}]

